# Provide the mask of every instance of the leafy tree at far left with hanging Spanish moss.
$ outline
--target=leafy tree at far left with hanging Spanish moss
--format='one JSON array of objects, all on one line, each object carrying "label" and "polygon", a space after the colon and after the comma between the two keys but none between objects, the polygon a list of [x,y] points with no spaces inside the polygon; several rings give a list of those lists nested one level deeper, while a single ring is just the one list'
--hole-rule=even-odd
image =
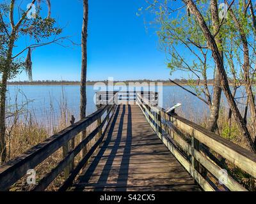
[{"label": "leafy tree at far left with hanging Spanish moss", "polygon": [[[48,0],[48,6],[51,8],[50,1]],[[35,3],[38,3],[37,10],[35,10]],[[31,4],[28,4],[27,10],[22,10],[20,6],[17,6],[17,15],[20,13],[19,20],[15,23],[15,0],[11,0],[10,4],[2,3],[0,4],[0,60],[1,60],[1,87],[0,87],[0,153],[1,153],[1,163],[6,160],[6,91],[7,91],[7,81],[15,77],[23,69],[26,69],[29,78],[31,79],[31,50],[37,47],[42,47],[44,45],[49,45],[50,43],[56,43],[64,38],[57,38],[61,33],[59,27],[55,27],[55,20],[49,15],[47,18],[40,17],[40,1],[31,0]],[[49,11],[49,13],[51,13]],[[20,38],[29,36],[31,39],[31,45],[23,48],[19,52],[15,47],[15,43]],[[44,42],[42,40],[53,36],[52,41]],[[15,54],[14,54],[15,48]],[[26,60],[22,54],[28,51]],[[16,53],[17,52],[17,53]]]}]

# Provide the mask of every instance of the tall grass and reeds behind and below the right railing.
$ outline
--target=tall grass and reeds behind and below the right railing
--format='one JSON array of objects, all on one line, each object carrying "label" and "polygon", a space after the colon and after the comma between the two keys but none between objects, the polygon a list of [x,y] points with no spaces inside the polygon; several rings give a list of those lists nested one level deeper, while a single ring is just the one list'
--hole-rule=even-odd
[{"label": "tall grass and reeds behind and below the right railing", "polygon": [[[244,96],[244,94],[242,94]],[[187,96],[184,95],[183,98],[184,101],[188,100]],[[239,101],[239,106],[241,110],[244,109],[244,98],[241,98]],[[167,106],[172,106],[175,104],[175,94],[168,96],[169,104]],[[186,110],[186,112],[184,111]],[[195,107],[191,105],[191,103],[186,106],[186,108],[178,108],[176,110],[177,114],[181,117],[184,117],[188,120],[191,120],[192,122],[195,122],[196,124],[199,124],[202,127],[206,127],[207,124],[207,117],[209,116],[209,110],[205,108],[205,106],[202,106],[202,109],[198,112],[195,112]],[[218,129],[220,132],[220,136],[223,138],[230,140],[231,142],[236,143],[237,145],[243,147],[244,149],[248,149],[248,145],[246,144],[246,141],[244,140],[243,135],[241,135],[241,131],[239,130],[239,127],[237,126],[236,120],[234,120],[234,117],[231,117],[231,119],[228,119],[228,111],[229,108],[227,106],[227,102],[221,99],[221,106],[220,106],[220,116],[218,119]],[[243,113],[243,112],[242,112]],[[249,115],[249,114],[248,114]],[[248,117],[248,129],[252,133],[252,127],[250,120],[250,115]],[[255,135],[255,134],[252,134]],[[228,170],[228,174],[232,175],[234,179],[237,180],[240,184],[243,184],[246,189],[249,189],[250,191],[256,191],[256,179],[250,176],[245,171],[241,170],[240,168],[237,168],[237,166],[234,166],[234,164],[231,164],[227,160],[223,159],[220,155],[216,154],[216,152],[212,152],[216,157],[218,157],[220,160],[223,161],[223,166]],[[215,182],[216,183],[216,182]],[[217,184],[218,185],[218,184]]]}]

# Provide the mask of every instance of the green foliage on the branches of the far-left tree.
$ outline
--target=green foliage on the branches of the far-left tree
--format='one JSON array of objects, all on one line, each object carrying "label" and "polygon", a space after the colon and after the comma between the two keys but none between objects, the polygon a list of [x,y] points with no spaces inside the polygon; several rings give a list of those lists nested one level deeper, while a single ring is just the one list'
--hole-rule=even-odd
[{"label": "green foliage on the branches of the far-left tree", "polygon": [[[40,47],[40,43],[44,44],[44,40],[51,41],[51,36],[56,37],[61,34],[62,29],[60,27],[56,27],[56,21],[54,18],[40,17],[40,10],[40,7],[38,7],[35,18],[29,19],[28,17],[25,17],[24,20],[22,20],[22,24],[20,24],[19,29],[15,31],[14,37],[12,37],[12,26],[9,18],[10,6],[7,3],[0,4],[0,73],[5,72],[8,76],[8,80],[16,77],[24,69],[26,69],[28,75],[31,76],[32,68],[31,66],[26,66],[27,64],[25,63],[26,59],[24,58],[24,51],[28,51],[26,47],[15,48],[17,53],[22,53],[16,57],[15,54],[13,54],[13,58],[10,63],[6,61],[8,50],[10,49],[10,41],[13,40],[16,42],[20,38],[23,39],[28,36],[31,45],[35,48],[37,45]],[[26,11],[19,9],[19,16],[22,17],[25,12]],[[17,22],[15,23],[17,24]],[[6,64],[10,64],[10,66],[6,66]]]}]

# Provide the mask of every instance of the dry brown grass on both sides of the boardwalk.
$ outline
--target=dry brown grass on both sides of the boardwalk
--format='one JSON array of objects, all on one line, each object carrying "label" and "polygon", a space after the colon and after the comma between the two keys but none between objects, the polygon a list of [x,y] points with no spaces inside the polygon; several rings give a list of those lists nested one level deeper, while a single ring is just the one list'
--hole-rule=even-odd
[{"label": "dry brown grass on both sides of the boardwalk", "polygon": [[[30,149],[31,147],[37,145],[40,142],[43,142],[46,138],[49,138],[54,133],[57,133],[61,129],[64,129],[70,125],[70,118],[72,115],[72,111],[68,109],[67,107],[67,100],[63,96],[63,101],[61,101],[60,104],[60,116],[58,117],[57,125],[52,124],[52,120],[56,119],[56,117],[53,117],[53,113],[44,113],[44,115],[47,115],[48,120],[50,121],[50,124],[43,124],[38,123],[36,118],[33,117],[35,114],[28,114],[28,110],[26,112],[26,115],[29,115],[29,117],[26,117],[26,119],[19,117],[19,114],[15,114],[14,119],[12,117],[12,120],[8,120],[8,129],[7,129],[7,152],[8,152],[8,159],[13,159],[14,157],[19,156],[26,150]],[[205,124],[207,122],[207,112],[205,110],[202,110],[201,113],[195,113],[193,112],[193,107],[189,108],[191,112],[189,113],[183,113],[182,111],[178,111],[179,115],[182,117],[186,117],[189,120],[192,120],[193,122],[196,122],[198,124],[201,124],[203,127],[205,127]],[[220,119],[218,121],[218,126],[220,130],[220,135],[226,138],[227,140],[230,140],[234,143],[237,143],[237,145],[240,145],[241,147],[246,147],[246,143],[244,142],[243,136],[241,136],[241,133],[239,131],[239,128],[236,125],[236,121],[232,118],[230,121],[228,120],[228,110],[225,110],[225,108],[221,108],[220,111]],[[24,113],[22,113],[24,115]],[[43,114],[42,114],[43,115]],[[51,118],[49,120],[49,118]],[[88,134],[95,128],[96,124],[92,124],[87,130]],[[250,124],[248,125],[250,127]],[[93,141],[90,145],[93,145],[95,141]],[[79,136],[76,136],[76,145],[79,143]],[[88,147],[89,148],[89,147]],[[45,159],[45,161],[38,166],[36,166],[36,180],[37,182],[44,177],[46,173],[49,173],[56,164],[58,164],[61,159],[63,158],[63,152],[62,149],[57,150],[52,154],[52,156]],[[75,160],[75,164],[77,164],[80,161],[81,157],[78,155]],[[243,184],[244,187],[247,189],[250,189],[251,191],[256,191],[256,179],[250,177],[247,173],[240,170],[236,166],[225,162],[225,165],[228,168],[228,173],[232,175],[238,182]],[[28,186],[26,184],[26,176],[20,179],[13,187],[10,189],[11,191],[28,191],[31,190],[34,186]],[[63,182],[64,177],[63,173],[59,177],[57,177],[54,182],[47,188],[47,191],[56,191],[58,187],[60,187],[60,184]]]}]

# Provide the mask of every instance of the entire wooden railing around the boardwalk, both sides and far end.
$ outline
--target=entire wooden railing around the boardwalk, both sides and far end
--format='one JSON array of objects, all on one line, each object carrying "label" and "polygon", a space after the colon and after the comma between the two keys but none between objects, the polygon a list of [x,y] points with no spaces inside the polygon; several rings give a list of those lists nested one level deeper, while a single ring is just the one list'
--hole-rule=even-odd
[{"label": "entire wooden railing around the boardwalk, both sides and far end", "polygon": [[[220,186],[218,186],[218,179],[220,178],[223,183],[222,189],[246,191],[245,187],[239,184],[231,175],[223,175],[223,168],[215,160],[212,160],[212,157],[209,157],[207,154],[209,152],[205,153],[205,147],[214,154],[227,159],[228,163],[241,168],[241,170],[256,178],[256,154],[205,130],[189,120],[179,117],[173,112],[166,113],[163,108],[157,106],[156,92],[112,92],[110,94],[108,92],[98,92],[97,98],[97,112],[63,129],[60,133],[51,136],[21,156],[0,166],[0,191],[10,189],[15,182],[26,175],[29,169],[35,168],[61,148],[63,149],[63,159],[49,173],[44,175],[43,179],[33,188],[33,191],[44,191],[62,172],[64,172],[65,180],[58,190],[67,190],[93,152],[102,143],[116,105],[122,103],[122,101],[134,100],[140,106],[157,136],[205,191],[220,189]],[[77,134],[96,121],[97,128],[74,147],[74,138]],[[74,122],[74,119],[72,122]],[[95,139],[93,146],[87,150],[81,161],[74,165],[74,158],[93,139]],[[208,173],[205,175],[205,171],[202,170],[207,170]]]}]

